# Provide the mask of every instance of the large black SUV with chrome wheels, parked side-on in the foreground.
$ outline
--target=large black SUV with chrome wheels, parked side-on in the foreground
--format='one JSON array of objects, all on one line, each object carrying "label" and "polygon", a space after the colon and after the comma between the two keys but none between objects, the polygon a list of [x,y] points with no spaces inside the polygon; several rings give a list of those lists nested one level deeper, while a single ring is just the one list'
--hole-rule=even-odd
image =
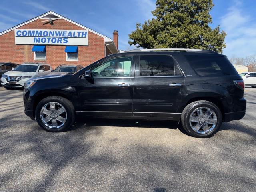
[{"label": "large black SUV with chrome wheels, parked side-on in the foreground", "polygon": [[180,121],[191,136],[212,136],[244,117],[244,82],[226,56],[209,50],[132,50],[74,74],[24,87],[25,113],[50,132],[76,116]]}]

